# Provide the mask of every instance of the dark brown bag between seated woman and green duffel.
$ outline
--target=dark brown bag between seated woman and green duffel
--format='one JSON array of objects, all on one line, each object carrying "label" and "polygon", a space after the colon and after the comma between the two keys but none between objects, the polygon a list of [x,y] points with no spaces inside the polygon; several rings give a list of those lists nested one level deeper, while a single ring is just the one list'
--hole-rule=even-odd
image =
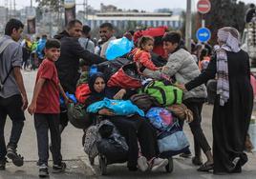
[{"label": "dark brown bag between seated woman and green duffel", "polygon": [[130,100],[133,104],[138,106],[139,109],[142,109],[145,112],[152,107],[160,107],[160,103],[156,100],[156,98],[148,94],[134,94],[131,96]]}]

